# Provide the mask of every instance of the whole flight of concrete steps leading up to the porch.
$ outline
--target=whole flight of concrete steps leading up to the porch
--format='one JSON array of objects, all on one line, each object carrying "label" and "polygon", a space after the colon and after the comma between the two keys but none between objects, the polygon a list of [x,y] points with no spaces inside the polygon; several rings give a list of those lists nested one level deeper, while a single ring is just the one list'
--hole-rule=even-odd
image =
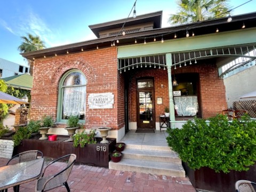
[{"label": "whole flight of concrete steps leading up to the porch", "polygon": [[109,169],[185,177],[181,160],[170,147],[126,144],[122,153],[122,160],[110,161]]}]

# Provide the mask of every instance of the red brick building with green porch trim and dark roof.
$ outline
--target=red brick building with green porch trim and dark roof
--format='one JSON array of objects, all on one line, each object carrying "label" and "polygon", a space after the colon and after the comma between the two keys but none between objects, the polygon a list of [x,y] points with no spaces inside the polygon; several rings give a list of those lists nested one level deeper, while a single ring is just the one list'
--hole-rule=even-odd
[{"label": "red brick building with green porch trim and dark roof", "polygon": [[171,126],[226,109],[221,66],[255,49],[256,14],[168,28],[161,19],[100,23],[89,26],[97,39],[23,53],[34,60],[30,119],[52,115],[61,134],[76,114],[86,129],[111,127],[119,140],[130,129],[159,130],[165,107]]}]

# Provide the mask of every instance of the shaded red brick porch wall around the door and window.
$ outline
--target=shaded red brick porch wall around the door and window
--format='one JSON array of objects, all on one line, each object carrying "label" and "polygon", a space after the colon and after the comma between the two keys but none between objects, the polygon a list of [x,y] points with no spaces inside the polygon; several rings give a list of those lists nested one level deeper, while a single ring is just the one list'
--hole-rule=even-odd
[{"label": "shaded red brick porch wall around the door and window", "polygon": [[[207,61],[207,60],[206,60]],[[172,75],[173,75],[172,68]],[[218,68],[212,63],[200,63],[182,67],[175,70],[175,74],[197,73],[199,74],[199,103],[201,103],[201,114],[203,118],[209,118],[223,109],[227,108],[225,98],[225,86],[223,80],[218,77]],[[136,116],[136,79],[140,77],[154,77],[155,83],[155,115],[156,122],[158,116],[164,114],[164,107],[169,106],[169,89],[168,89],[168,76],[167,70],[163,69],[150,69],[142,71],[130,72],[130,92],[129,92],[129,114],[130,122],[137,122]],[[161,87],[163,85],[163,87]],[[157,98],[163,99],[162,105],[157,105]],[[200,109],[199,109],[200,110]]]}]

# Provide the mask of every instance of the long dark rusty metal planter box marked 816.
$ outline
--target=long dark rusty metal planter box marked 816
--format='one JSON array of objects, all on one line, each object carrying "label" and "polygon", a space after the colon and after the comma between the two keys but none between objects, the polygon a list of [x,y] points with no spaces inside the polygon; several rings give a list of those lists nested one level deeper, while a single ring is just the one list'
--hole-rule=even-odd
[{"label": "long dark rusty metal planter box marked 816", "polygon": [[[65,138],[68,139],[68,138]],[[62,139],[62,140],[65,140]],[[44,157],[58,158],[67,154],[76,154],[76,162],[91,166],[107,167],[109,154],[115,150],[116,139],[110,139],[108,144],[86,144],[84,148],[73,147],[73,142],[36,139],[24,139],[19,146],[14,147],[13,156],[27,150],[42,151]]]}]

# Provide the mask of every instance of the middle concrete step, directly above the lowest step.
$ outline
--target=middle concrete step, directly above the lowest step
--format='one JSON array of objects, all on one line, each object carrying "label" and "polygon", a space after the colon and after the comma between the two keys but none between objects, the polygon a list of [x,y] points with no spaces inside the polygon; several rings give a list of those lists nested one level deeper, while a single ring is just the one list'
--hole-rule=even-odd
[{"label": "middle concrete step, directly above the lowest step", "polygon": [[153,162],[166,162],[181,164],[181,160],[177,153],[173,151],[158,151],[158,150],[142,150],[126,148],[123,153],[123,158],[140,159]]}]

